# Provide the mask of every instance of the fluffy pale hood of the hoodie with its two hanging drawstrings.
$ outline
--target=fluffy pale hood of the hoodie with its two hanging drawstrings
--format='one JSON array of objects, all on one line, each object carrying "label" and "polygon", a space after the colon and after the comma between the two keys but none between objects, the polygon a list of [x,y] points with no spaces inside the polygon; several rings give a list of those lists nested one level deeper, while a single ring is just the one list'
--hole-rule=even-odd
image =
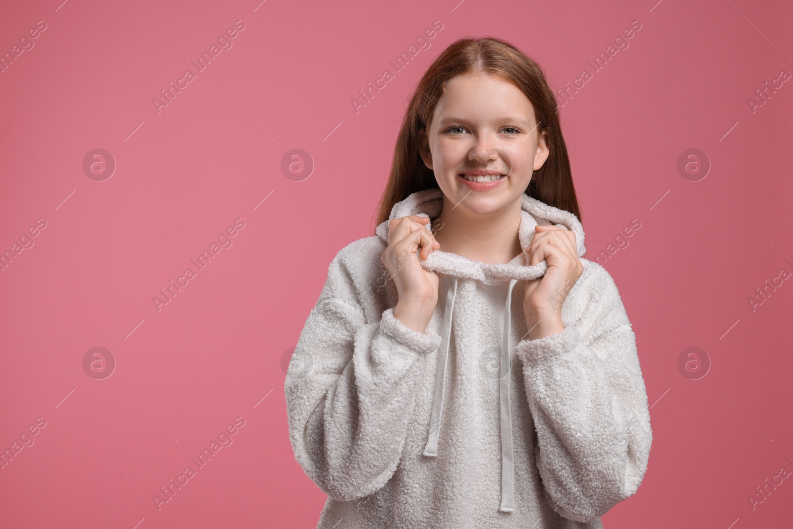
[{"label": "fluffy pale hood of the hoodie with its two hanging drawstrings", "polygon": [[[440,188],[418,191],[397,202],[391,209],[389,220],[408,215],[419,217],[438,217],[443,208],[443,192]],[[385,243],[389,243],[389,220],[379,224],[375,230]],[[449,359],[452,316],[454,313],[454,298],[457,293],[458,279],[469,278],[485,283],[509,281],[507,299],[504,302],[504,332],[502,333],[500,351],[500,378],[499,383],[499,420],[501,437],[501,505],[500,511],[515,511],[515,458],[512,450],[512,417],[510,404],[510,377],[511,370],[511,298],[512,288],[519,280],[529,280],[542,277],[548,265],[543,259],[533,266],[527,266],[526,248],[531,243],[534,227],[537,225],[555,224],[560,228],[573,231],[576,234],[577,254],[584,255],[584,228],[573,213],[563,209],[554,208],[536,198],[523,194],[520,211],[520,225],[518,237],[523,250],[509,263],[481,263],[473,261],[454,253],[435,250],[427,259],[419,260],[426,270],[434,270],[446,276],[445,305],[443,309],[443,323],[439,349],[437,370],[435,371],[435,392],[432,398],[430,426],[427,432],[427,444],[423,454],[427,457],[438,455],[438,439],[440,425],[442,424],[443,397],[446,384],[446,364]],[[440,287],[439,287],[440,288]]]}]

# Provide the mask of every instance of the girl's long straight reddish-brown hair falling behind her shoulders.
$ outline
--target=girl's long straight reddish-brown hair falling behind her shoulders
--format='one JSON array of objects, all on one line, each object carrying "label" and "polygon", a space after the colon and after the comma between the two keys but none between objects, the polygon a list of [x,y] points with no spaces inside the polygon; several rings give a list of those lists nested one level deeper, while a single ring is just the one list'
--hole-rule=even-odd
[{"label": "girl's long straight reddish-brown hair falling behind her shoulders", "polygon": [[394,148],[389,181],[377,211],[377,224],[389,220],[393,205],[416,191],[438,187],[435,174],[419,155],[419,130],[427,132],[432,114],[446,86],[457,75],[495,75],[522,91],[534,107],[538,137],[545,134],[548,159],[531,176],[525,193],[547,205],[573,213],[580,210],[565,139],[561,135],[557,102],[542,68],[505,40],[490,36],[465,37],[446,48],[423,75],[410,99]]}]

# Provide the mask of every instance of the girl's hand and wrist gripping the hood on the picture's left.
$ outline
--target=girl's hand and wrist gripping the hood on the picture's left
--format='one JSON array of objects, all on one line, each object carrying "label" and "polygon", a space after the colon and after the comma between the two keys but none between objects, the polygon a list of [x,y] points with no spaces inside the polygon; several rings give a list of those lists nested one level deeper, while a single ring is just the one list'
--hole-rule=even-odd
[{"label": "girl's hand and wrist gripping the hood on the picture's left", "polygon": [[418,332],[424,332],[438,303],[438,274],[424,270],[416,256],[427,259],[440,244],[427,230],[427,217],[409,215],[389,222],[389,246],[381,261],[397,286],[399,300],[394,317]]}]

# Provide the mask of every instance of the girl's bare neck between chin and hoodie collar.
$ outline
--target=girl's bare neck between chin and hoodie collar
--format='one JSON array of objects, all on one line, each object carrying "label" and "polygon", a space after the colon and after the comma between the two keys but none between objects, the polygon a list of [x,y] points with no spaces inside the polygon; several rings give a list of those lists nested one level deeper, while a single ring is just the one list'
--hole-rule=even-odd
[{"label": "girl's bare neck between chin and hoodie collar", "polygon": [[519,255],[520,201],[485,215],[472,213],[443,197],[435,240],[448,251],[481,263],[509,263]]}]

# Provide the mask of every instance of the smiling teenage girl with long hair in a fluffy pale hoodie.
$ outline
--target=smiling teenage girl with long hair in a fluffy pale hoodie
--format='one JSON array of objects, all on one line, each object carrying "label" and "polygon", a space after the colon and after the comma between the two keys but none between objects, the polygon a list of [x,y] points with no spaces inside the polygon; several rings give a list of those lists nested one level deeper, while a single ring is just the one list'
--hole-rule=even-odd
[{"label": "smiling teenage girl with long hair in a fluffy pale hoodie", "polygon": [[652,431],[619,290],[584,259],[554,94],[504,40],[435,59],[374,236],[339,251],[285,381],[318,527],[602,527]]}]

